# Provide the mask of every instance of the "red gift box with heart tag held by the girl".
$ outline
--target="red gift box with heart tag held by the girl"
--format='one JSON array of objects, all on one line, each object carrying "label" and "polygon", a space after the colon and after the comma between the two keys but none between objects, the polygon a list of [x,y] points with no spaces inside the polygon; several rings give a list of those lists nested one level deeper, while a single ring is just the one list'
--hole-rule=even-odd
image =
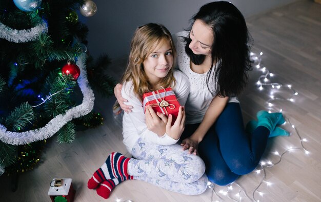
[{"label": "red gift box with heart tag held by the girl", "polygon": [[171,87],[163,88],[153,92],[147,92],[143,95],[143,106],[144,112],[146,110],[145,106],[151,105],[155,112],[160,112],[168,116],[172,114],[173,120],[172,125],[174,124],[179,110],[179,102],[176,98],[176,95]]}]

